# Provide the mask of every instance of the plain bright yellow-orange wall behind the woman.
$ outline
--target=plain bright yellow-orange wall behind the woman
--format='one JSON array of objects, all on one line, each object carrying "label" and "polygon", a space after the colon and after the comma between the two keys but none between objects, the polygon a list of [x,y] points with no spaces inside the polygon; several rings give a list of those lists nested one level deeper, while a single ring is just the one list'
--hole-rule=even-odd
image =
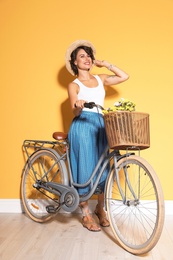
[{"label": "plain bright yellow-orange wall behind the woman", "polygon": [[0,1],[0,198],[19,198],[24,139],[68,131],[72,77],[64,54],[72,41],[88,39],[98,59],[130,74],[108,91],[105,106],[126,97],[150,113],[151,148],[142,155],[173,200],[172,13],[171,0]]}]

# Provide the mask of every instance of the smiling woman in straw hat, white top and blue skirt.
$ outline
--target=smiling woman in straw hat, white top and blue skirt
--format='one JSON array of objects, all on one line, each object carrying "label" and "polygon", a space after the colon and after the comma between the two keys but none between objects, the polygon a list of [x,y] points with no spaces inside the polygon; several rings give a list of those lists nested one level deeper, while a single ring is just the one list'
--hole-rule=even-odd
[{"label": "smiling woman in straw hat, white top and blue skirt", "polygon": [[[117,66],[104,60],[95,60],[96,51],[92,43],[86,40],[73,42],[66,52],[66,68],[76,79],[68,86],[68,95],[74,119],[68,134],[70,142],[70,161],[75,182],[85,183],[91,176],[100,154],[107,145],[103,116],[95,109],[84,107],[85,102],[95,102],[104,106],[104,86],[116,85],[128,79],[128,75]],[[99,68],[106,67],[112,75],[92,75],[90,70],[95,65]],[[101,125],[100,125],[101,124]],[[95,214],[99,224],[109,226],[104,207],[104,185],[106,170],[100,180],[98,204]],[[87,193],[89,187],[79,188],[82,196]],[[88,208],[88,202],[80,203],[82,209],[82,224],[90,231],[100,231],[98,225]]]}]

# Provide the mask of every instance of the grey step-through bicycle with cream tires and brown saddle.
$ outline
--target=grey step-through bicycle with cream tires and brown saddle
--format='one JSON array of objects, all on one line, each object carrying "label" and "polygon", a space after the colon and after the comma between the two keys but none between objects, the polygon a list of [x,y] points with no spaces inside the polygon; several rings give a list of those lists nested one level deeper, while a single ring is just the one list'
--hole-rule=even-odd
[{"label": "grey step-through bicycle with cream tires and brown saddle", "polygon": [[[93,102],[85,106],[103,109]],[[105,210],[114,236],[120,246],[132,254],[150,251],[157,244],[164,224],[163,192],[151,165],[140,154],[135,155],[135,147],[120,154],[107,146],[87,183],[74,183],[68,135],[55,132],[53,138],[55,141],[23,142],[27,161],[21,178],[21,199],[28,216],[43,223],[60,209],[74,212],[80,202],[99,192],[99,180],[109,165]],[[77,188],[87,185],[91,186],[90,191],[79,196]]]}]

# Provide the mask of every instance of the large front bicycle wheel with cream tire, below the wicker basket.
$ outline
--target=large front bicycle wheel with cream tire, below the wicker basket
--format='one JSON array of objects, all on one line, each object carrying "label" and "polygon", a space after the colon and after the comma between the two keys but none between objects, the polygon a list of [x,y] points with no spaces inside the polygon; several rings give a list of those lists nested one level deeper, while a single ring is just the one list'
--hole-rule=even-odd
[{"label": "large front bicycle wheel with cream tire, below the wicker basket", "polygon": [[[164,224],[164,198],[153,168],[141,157],[122,158],[108,179],[106,205],[119,244],[136,255],[150,251]],[[117,183],[119,182],[120,189]]]}]

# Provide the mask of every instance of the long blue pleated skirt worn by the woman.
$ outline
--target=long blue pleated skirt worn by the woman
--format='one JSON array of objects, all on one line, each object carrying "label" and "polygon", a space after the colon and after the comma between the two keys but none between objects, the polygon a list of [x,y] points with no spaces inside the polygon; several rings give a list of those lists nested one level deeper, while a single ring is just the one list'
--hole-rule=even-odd
[{"label": "long blue pleated skirt worn by the woman", "polygon": [[[100,155],[107,146],[104,120],[101,114],[82,111],[73,119],[69,133],[70,163],[75,183],[86,183],[95,169]],[[104,191],[106,169],[100,179],[99,186]],[[80,195],[86,194],[90,186],[78,188]]]}]

